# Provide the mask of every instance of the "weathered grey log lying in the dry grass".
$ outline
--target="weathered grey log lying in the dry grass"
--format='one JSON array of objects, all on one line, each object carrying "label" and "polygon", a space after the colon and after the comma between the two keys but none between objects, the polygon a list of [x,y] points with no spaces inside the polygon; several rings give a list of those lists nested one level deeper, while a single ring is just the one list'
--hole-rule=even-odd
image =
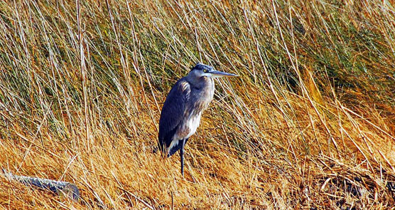
[{"label": "weathered grey log lying in the dry grass", "polygon": [[2,169],[2,171],[2,175],[10,181],[17,181],[25,184],[26,186],[35,186],[40,189],[46,189],[55,194],[63,195],[73,201],[78,201],[78,199],[80,199],[80,189],[70,182],[60,182],[53,179],[42,179],[38,177],[18,176],[11,172],[7,172],[5,169]]}]

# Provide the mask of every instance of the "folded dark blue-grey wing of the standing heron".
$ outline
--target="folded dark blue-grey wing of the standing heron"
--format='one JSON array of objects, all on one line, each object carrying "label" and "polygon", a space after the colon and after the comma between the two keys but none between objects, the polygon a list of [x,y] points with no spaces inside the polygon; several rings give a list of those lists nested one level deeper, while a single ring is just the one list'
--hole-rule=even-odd
[{"label": "folded dark blue-grey wing of the standing heron", "polygon": [[189,99],[190,85],[186,80],[180,79],[171,88],[163,104],[161,119],[159,120],[159,147],[164,152],[169,147],[173,136],[183,120],[185,105]]}]

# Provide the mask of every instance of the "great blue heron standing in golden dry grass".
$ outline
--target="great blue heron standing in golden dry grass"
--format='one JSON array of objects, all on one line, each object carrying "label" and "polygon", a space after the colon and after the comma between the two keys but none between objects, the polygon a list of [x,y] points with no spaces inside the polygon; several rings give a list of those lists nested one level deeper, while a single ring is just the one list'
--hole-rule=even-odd
[{"label": "great blue heron standing in golden dry grass", "polygon": [[200,116],[212,100],[214,78],[234,76],[237,75],[198,63],[168,93],[159,120],[158,145],[167,157],[180,150],[181,174],[184,175],[185,143],[196,132]]}]

